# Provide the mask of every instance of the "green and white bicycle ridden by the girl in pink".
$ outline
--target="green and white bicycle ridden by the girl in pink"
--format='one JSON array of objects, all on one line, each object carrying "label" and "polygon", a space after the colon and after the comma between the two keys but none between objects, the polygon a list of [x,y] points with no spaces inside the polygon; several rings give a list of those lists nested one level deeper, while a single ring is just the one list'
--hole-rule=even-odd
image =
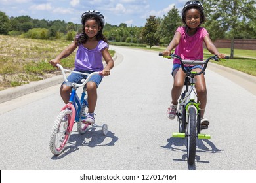
[{"label": "green and white bicycle ridden by the girl in pink", "polygon": [[[163,56],[159,53],[159,56]],[[177,58],[181,61],[181,68],[186,73],[184,80],[184,92],[179,98],[177,106],[177,121],[179,122],[179,132],[173,133],[173,137],[187,139],[187,157],[188,164],[193,165],[196,158],[196,140],[198,139],[211,139],[211,135],[201,133],[201,109],[200,103],[197,101],[196,95],[196,78],[194,76],[201,75],[207,64],[211,59],[220,61],[217,56],[210,56],[205,61],[201,60],[184,60],[180,56],[171,54],[170,56],[163,56],[163,58],[173,59]],[[228,59],[226,56],[225,59]],[[203,65],[202,71],[190,71],[189,67],[192,65]]]}]

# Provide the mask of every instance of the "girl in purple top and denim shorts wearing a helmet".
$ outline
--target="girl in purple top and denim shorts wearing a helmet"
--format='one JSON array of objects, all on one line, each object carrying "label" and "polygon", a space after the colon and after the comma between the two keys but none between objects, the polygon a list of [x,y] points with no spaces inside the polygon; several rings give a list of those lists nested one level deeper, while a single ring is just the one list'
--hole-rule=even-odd
[{"label": "girl in purple top and denim shorts wearing a helmet", "polygon": [[[108,41],[102,34],[102,29],[105,24],[104,16],[96,11],[89,10],[82,14],[83,33],[75,37],[74,42],[63,50],[55,59],[49,61],[51,65],[56,66],[60,63],[60,59],[70,56],[77,49],[75,56],[75,71],[83,73],[92,73],[93,71],[102,71],[103,76],[110,75],[110,69],[114,67],[114,61],[108,52]],[[103,67],[102,56],[106,61],[106,66]],[[68,82],[80,82],[85,78],[85,75],[71,73],[68,76]],[[88,115],[85,122],[93,124],[95,122],[94,111],[97,101],[96,89],[102,80],[102,76],[94,75],[87,82],[88,94]],[[64,82],[60,87],[60,96],[64,103],[68,103],[70,98],[70,84]]]}]

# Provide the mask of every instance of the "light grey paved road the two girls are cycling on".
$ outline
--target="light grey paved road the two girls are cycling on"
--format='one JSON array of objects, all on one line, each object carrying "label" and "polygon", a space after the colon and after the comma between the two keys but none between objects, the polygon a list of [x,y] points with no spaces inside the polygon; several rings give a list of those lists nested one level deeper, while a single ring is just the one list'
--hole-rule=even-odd
[{"label": "light grey paved road the two girls are cycling on", "polygon": [[[89,170],[255,170],[256,96],[224,76],[207,70],[211,125],[199,140],[196,164],[188,166],[186,142],[174,139],[176,120],[165,111],[171,101],[171,61],[156,52],[112,47],[119,54],[112,74],[98,88],[97,124],[79,135],[74,126],[66,151],[53,156],[49,137],[63,103],[58,88],[1,103],[0,169]],[[67,163],[68,162],[68,163]]]}]

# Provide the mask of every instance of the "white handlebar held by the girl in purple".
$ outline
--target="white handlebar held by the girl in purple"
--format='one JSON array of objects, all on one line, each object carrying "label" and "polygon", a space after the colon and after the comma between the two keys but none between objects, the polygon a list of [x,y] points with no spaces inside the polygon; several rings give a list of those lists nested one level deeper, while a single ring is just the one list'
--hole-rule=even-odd
[{"label": "white handlebar held by the girl in purple", "polygon": [[72,71],[72,70],[64,69],[64,68],[62,67],[62,65],[60,65],[60,64],[57,64],[56,66],[57,66],[58,68],[60,68],[65,82],[68,82],[68,79],[67,79],[67,77],[66,77],[66,73],[65,73],[65,72],[78,73],[78,74],[81,74],[81,75],[87,75],[87,78],[86,78],[85,80],[84,80],[84,79],[81,80],[82,84],[72,83],[72,86],[75,86],[75,87],[85,86],[85,84],[87,84],[87,82],[89,81],[89,79],[90,79],[93,75],[101,75],[101,76],[102,76],[102,71],[96,71],[96,72],[93,72],[93,73],[91,73],[91,74],[88,74],[88,73],[81,73],[81,72],[78,72],[78,71]]}]

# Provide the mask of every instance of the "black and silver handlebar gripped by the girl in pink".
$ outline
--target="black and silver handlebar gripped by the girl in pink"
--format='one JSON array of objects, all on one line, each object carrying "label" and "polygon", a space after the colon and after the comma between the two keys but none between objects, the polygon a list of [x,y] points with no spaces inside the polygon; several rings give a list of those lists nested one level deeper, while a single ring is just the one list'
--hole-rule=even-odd
[{"label": "black and silver handlebar gripped by the girl in pink", "polygon": [[[163,56],[163,53],[159,53],[159,56]],[[215,56],[210,56],[209,58],[207,58],[205,61],[200,61],[200,60],[188,60],[188,59],[182,59],[180,56],[178,55],[175,55],[175,54],[170,54],[169,56],[163,56],[164,58],[177,58],[181,61],[181,68],[182,70],[184,71],[184,73],[186,73],[186,75],[190,75],[190,76],[197,76],[197,75],[201,75],[206,67],[207,67],[207,64],[209,63],[209,61],[211,59],[215,60],[215,61],[221,61],[221,59],[219,59],[217,57],[217,55]],[[225,56],[224,59],[229,59],[229,56]],[[186,69],[185,65],[184,64],[188,64],[188,65],[203,65],[203,69],[202,71],[200,71],[199,73],[191,73],[190,69]]]}]

